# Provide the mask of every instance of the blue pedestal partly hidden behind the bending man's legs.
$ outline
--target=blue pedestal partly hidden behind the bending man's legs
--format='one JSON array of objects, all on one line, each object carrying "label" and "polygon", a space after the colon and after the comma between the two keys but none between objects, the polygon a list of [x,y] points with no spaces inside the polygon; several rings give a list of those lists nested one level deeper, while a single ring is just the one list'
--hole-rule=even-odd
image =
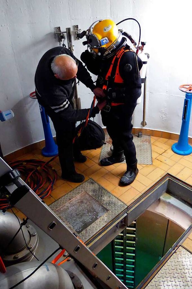
[{"label": "blue pedestal partly hidden behind the bending man's legs", "polygon": [[46,114],[44,107],[39,104],[39,109],[41,112],[41,119],[43,123],[43,130],[44,130],[44,136],[45,136],[45,147],[42,149],[42,155],[45,157],[53,157],[55,155],[58,155],[58,147],[55,144],[51,128],[49,124],[49,116]]}]

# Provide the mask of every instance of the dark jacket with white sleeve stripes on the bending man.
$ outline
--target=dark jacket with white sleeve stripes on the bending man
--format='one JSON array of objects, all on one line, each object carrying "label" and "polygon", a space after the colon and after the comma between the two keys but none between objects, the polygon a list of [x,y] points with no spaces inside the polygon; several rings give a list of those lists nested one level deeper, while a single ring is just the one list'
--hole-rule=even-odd
[{"label": "dark jacket with white sleeve stripes on the bending man", "polygon": [[92,91],[96,87],[87,69],[83,66],[81,61],[74,57],[72,52],[64,47],[55,47],[48,50],[39,61],[35,73],[36,96],[38,102],[47,109],[47,112],[51,110],[51,112],[54,112],[68,121],[80,121],[86,118],[88,109],[73,109],[72,98],[74,93],[74,81],[76,80],[60,80],[55,78],[51,69],[53,58],[60,54],[70,55],[76,60],[78,66],[77,79]]}]

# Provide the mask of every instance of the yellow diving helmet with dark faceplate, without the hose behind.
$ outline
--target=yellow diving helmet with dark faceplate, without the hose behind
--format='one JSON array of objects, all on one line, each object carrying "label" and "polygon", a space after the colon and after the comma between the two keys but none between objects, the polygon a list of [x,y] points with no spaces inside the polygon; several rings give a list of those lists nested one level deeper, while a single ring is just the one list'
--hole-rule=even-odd
[{"label": "yellow diving helmet with dark faceplate, without the hose behind", "polygon": [[98,20],[91,24],[86,38],[86,44],[95,56],[106,56],[119,45],[122,33],[112,20]]}]

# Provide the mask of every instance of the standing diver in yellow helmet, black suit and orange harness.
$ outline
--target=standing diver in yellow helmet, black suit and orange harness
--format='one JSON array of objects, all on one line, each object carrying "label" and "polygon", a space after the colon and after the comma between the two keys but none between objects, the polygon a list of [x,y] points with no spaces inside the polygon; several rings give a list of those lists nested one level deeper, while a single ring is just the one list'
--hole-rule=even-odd
[{"label": "standing diver in yellow helmet, black suit and orange harness", "polygon": [[141,95],[140,69],[143,63],[123,34],[112,20],[94,22],[86,33],[84,31],[87,41],[83,45],[87,45],[90,51],[85,50],[81,60],[91,73],[98,75],[96,87],[103,89],[107,99],[101,117],[112,139],[113,153],[102,159],[101,165],[109,166],[126,160],[127,170],[119,183],[126,186],[138,174],[131,121]]}]

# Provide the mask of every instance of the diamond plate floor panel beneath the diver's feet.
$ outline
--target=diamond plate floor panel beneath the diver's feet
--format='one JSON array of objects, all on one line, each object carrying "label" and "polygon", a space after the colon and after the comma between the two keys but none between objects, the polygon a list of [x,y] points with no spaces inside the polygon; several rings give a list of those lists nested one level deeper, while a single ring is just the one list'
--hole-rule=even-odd
[{"label": "diamond plate floor panel beneath the diver's feet", "polygon": [[[134,136],[133,142],[137,152],[138,164],[152,164],[151,137],[148,135],[143,135],[143,137]],[[102,146],[99,160],[112,155],[112,152],[110,151],[112,141],[108,134],[105,135],[105,143],[106,144]]]}]

